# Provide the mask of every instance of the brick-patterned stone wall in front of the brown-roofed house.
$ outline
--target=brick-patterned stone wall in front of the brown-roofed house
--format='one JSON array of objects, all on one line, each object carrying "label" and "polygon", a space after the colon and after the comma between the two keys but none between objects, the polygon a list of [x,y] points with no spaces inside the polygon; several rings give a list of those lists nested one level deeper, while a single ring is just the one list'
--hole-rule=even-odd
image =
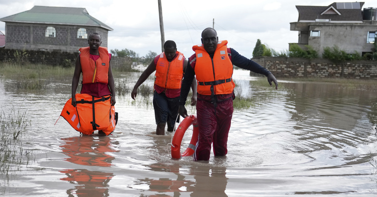
[{"label": "brick-patterned stone wall in front of the brown-roofed house", "polygon": [[[377,61],[358,60],[335,64],[325,59],[257,57],[251,59],[271,71],[275,77],[327,77],[377,79]],[[258,76],[250,72],[251,76]]]}]

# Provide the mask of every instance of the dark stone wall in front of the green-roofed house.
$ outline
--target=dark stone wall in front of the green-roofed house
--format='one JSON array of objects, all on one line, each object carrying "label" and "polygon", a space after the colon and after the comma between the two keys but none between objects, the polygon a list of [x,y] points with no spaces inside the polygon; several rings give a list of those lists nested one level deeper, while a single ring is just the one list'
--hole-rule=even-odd
[{"label": "dark stone wall in front of the green-roofed house", "polygon": [[[54,66],[74,66],[77,56],[78,53],[61,51],[34,51],[0,48],[0,62],[29,62]],[[129,70],[131,69],[132,59],[130,57],[113,56],[111,59],[111,65],[112,68]]]}]

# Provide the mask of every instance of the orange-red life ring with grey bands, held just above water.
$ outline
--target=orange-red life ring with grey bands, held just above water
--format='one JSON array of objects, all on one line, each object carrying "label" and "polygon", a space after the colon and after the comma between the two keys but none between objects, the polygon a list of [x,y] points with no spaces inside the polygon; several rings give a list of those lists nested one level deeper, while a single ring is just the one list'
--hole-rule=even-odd
[{"label": "orange-red life ring with grey bands, held just above water", "polygon": [[[190,125],[193,125],[193,132],[189,147],[181,154],[181,143],[182,138]],[[181,124],[179,124],[178,129],[175,131],[173,140],[172,140],[172,158],[179,159],[182,156],[190,156],[193,155],[195,152],[196,142],[199,139],[199,127],[198,127],[198,120],[196,119],[196,115],[190,115],[185,117],[182,120]]]}]

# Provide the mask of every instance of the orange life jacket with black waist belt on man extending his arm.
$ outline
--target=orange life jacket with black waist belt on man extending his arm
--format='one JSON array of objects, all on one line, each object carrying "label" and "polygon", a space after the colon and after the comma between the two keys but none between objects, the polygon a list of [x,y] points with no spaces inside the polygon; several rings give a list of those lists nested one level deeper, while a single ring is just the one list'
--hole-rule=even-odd
[{"label": "orange life jacket with black waist belt on man extending his arm", "polygon": [[218,42],[213,60],[202,44],[192,47],[196,54],[195,75],[199,94],[221,95],[233,92],[233,64],[229,59],[226,44],[228,41]]}]

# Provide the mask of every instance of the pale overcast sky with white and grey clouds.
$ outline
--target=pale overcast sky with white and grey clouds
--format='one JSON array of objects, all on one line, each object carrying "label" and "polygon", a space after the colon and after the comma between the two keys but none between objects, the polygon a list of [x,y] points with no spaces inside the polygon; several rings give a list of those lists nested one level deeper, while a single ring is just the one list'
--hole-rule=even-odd
[{"label": "pale overcast sky with white and grey clouds", "polygon": [[[186,58],[192,46],[201,43],[201,32],[213,26],[219,40],[228,40],[247,58],[253,55],[257,39],[276,51],[298,42],[290,23],[298,20],[296,5],[328,6],[328,0],[161,0],[165,41],[173,40]],[[297,3],[300,2],[300,3]],[[336,1],[355,2],[355,1]],[[363,8],[377,8],[377,0],[365,0]],[[33,6],[86,8],[94,18],[110,26],[108,48],[133,50],[139,56],[161,53],[157,0],[0,0],[0,18],[28,11]],[[0,21],[5,33],[5,23]]]}]

